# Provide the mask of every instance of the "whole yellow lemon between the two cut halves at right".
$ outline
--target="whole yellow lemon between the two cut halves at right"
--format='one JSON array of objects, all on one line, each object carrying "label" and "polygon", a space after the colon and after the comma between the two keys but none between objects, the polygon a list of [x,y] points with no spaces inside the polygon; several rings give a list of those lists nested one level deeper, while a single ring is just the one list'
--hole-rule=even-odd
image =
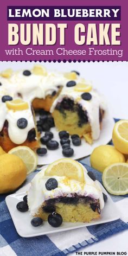
[{"label": "whole yellow lemon between the two cut halves at right", "polygon": [[101,172],[110,164],[126,162],[124,155],[110,145],[95,148],[91,153],[90,161],[91,166]]}]

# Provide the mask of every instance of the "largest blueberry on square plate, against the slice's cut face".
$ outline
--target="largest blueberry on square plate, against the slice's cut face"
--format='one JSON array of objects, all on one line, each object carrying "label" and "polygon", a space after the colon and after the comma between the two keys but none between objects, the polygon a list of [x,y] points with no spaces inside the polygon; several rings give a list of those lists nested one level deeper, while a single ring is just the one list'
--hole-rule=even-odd
[{"label": "largest blueberry on square plate, against the slice's cut face", "polygon": [[48,223],[54,228],[59,227],[62,224],[62,221],[63,219],[59,213],[53,212],[48,216]]}]

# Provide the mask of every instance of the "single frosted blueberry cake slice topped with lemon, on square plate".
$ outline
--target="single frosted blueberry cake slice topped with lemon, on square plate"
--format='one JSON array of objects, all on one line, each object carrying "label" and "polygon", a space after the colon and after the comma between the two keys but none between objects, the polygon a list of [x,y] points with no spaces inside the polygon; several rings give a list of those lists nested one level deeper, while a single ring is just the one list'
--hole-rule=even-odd
[{"label": "single frosted blueberry cake slice topped with lemon, on square plate", "polygon": [[63,158],[41,170],[28,191],[30,214],[49,222],[59,214],[64,222],[90,222],[99,219],[104,207],[97,181],[78,162]]}]

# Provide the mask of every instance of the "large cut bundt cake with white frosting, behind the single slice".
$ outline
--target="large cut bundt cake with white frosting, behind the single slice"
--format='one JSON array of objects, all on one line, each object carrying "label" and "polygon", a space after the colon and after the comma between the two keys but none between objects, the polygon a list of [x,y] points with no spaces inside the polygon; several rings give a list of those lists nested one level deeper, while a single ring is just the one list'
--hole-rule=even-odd
[{"label": "large cut bundt cake with white frosting, behind the single slice", "polygon": [[78,72],[7,69],[1,72],[0,95],[0,145],[6,152],[16,145],[39,148],[37,110],[50,111],[59,131],[76,133],[90,144],[100,135],[105,104]]}]

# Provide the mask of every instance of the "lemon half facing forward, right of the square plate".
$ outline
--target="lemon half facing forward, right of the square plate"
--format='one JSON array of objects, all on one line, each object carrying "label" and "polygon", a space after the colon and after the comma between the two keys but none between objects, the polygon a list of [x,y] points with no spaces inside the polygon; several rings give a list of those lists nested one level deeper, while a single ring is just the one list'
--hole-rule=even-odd
[{"label": "lemon half facing forward, right of the square plate", "polygon": [[103,184],[112,195],[128,194],[128,164],[117,163],[107,167],[103,172]]}]

